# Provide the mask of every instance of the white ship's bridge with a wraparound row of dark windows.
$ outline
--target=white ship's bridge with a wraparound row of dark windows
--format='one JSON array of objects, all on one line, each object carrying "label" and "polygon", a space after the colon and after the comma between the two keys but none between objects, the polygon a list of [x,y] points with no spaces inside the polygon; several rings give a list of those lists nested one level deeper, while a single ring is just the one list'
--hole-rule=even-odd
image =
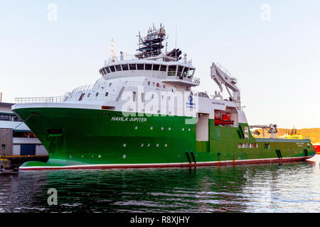
[{"label": "white ship's bridge with a wraparound row of dark windows", "polygon": [[100,74],[105,79],[119,77],[153,77],[169,85],[193,87],[200,84],[200,79],[194,78],[196,68],[187,60],[177,61],[175,57],[158,55],[138,59],[135,55],[111,57],[105,61]]}]

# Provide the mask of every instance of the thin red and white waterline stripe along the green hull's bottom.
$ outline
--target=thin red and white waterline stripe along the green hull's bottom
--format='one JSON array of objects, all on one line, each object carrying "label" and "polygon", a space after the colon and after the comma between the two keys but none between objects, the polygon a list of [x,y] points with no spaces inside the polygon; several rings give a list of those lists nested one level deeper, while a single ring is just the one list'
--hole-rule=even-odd
[{"label": "thin red and white waterline stripe along the green hull's bottom", "polygon": [[56,167],[19,167],[19,170],[89,170],[89,169],[124,169],[124,168],[164,168],[164,167],[193,167],[193,166],[223,166],[223,165],[245,165],[245,164],[260,164],[260,163],[277,163],[277,162],[301,162],[309,159],[313,156],[306,157],[284,157],[271,158],[271,159],[259,159],[259,160],[231,160],[220,162],[197,162],[194,163],[181,163],[181,164],[132,164],[132,165],[69,165],[69,166],[56,166]]}]

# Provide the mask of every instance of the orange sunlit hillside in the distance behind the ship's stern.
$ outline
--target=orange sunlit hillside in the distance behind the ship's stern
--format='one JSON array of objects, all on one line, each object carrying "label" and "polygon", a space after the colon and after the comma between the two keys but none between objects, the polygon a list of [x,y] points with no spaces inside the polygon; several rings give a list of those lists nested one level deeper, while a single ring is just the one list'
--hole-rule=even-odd
[{"label": "orange sunlit hillside in the distance behind the ship's stern", "polygon": [[[278,133],[277,133],[277,138],[281,138],[284,133],[286,132],[286,128],[277,128]],[[262,135],[262,129],[258,129],[260,131],[260,135],[255,135],[255,138],[263,138]],[[302,135],[304,138],[309,137],[311,140],[311,143],[320,143],[320,128],[302,128],[302,129],[297,129],[297,133]],[[265,131],[265,138],[269,138],[270,134]]]}]

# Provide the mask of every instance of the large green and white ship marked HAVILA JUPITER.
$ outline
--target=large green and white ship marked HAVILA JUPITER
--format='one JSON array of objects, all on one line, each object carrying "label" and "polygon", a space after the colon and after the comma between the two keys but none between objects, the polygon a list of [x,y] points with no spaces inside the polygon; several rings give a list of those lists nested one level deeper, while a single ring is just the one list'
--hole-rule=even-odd
[{"label": "large green and white ship marked HAVILA JUPITER", "polygon": [[315,155],[309,139],[254,138],[238,79],[218,62],[210,77],[220,90],[195,92],[196,67],[179,48],[167,51],[164,26],[138,38],[134,55],[112,50],[95,84],[64,96],[16,98],[12,110],[49,153],[47,162],[25,162],[20,170],[299,162]]}]

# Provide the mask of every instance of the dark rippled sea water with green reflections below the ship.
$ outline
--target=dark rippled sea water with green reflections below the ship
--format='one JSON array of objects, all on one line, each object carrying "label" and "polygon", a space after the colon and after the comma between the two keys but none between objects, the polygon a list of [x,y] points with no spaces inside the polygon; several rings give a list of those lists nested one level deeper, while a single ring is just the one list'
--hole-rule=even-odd
[{"label": "dark rippled sea water with green reflections below the ship", "polygon": [[0,212],[319,212],[319,160],[316,155],[270,165],[19,171],[0,176]]}]

